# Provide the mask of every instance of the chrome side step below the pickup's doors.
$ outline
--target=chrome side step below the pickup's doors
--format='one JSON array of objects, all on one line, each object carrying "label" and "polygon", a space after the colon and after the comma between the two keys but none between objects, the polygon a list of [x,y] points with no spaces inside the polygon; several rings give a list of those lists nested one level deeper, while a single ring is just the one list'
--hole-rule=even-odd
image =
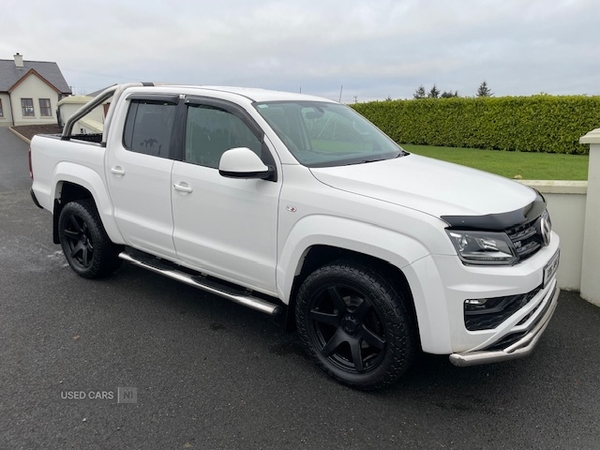
[{"label": "chrome side step below the pickup's doors", "polygon": [[210,294],[218,295],[220,297],[226,298],[227,300],[231,300],[232,302],[239,303],[240,305],[255,309],[270,316],[277,316],[283,310],[281,306],[269,303],[268,301],[258,297],[253,297],[252,295],[248,295],[242,289],[238,290],[225,285],[221,285],[217,281],[212,281],[199,275],[190,275],[188,273],[177,270],[174,266],[162,262],[161,260],[156,259],[152,256],[146,256],[143,253],[138,254],[137,251],[135,253],[136,254],[134,255],[128,252],[121,252],[119,254],[119,258],[137,266],[143,267],[144,269],[148,269],[152,272],[156,272],[163,276],[172,278],[173,280],[189,284],[190,286],[202,289],[203,291],[206,291]]}]

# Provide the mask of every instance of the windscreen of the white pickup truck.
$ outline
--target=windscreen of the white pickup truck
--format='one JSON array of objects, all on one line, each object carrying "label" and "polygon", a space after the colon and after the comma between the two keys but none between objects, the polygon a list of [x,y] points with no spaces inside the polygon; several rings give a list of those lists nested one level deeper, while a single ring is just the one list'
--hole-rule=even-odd
[{"label": "windscreen of the white pickup truck", "polygon": [[379,128],[338,103],[268,102],[255,107],[307,167],[360,164],[405,154]]}]

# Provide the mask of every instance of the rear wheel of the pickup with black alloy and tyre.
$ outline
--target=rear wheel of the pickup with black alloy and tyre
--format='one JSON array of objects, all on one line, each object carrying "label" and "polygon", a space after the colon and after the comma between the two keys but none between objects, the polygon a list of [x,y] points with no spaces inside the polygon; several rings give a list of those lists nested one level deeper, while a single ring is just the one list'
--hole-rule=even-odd
[{"label": "rear wheel of the pickup with black alloy and tyre", "polygon": [[58,219],[58,236],[67,262],[77,275],[99,278],[117,270],[121,246],[111,242],[92,200],[67,203]]}]

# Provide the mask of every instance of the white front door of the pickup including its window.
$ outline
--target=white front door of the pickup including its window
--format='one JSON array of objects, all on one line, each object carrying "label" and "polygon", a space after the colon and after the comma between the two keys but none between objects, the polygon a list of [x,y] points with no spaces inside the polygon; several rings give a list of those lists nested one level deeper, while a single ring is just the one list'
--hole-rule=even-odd
[{"label": "white front door of the pickup including its window", "polygon": [[281,181],[219,175],[221,155],[248,147],[274,165],[262,130],[239,106],[187,102],[184,160],[173,166],[173,239],[178,258],[257,290],[275,292]]}]

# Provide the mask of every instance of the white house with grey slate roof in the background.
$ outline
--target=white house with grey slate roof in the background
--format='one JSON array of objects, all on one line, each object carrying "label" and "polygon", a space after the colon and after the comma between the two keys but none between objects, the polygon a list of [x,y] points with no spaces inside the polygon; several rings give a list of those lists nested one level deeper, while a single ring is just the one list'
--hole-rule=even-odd
[{"label": "white house with grey slate roof in the background", "polygon": [[71,89],[58,65],[48,61],[0,59],[0,126],[56,124],[59,100]]}]

